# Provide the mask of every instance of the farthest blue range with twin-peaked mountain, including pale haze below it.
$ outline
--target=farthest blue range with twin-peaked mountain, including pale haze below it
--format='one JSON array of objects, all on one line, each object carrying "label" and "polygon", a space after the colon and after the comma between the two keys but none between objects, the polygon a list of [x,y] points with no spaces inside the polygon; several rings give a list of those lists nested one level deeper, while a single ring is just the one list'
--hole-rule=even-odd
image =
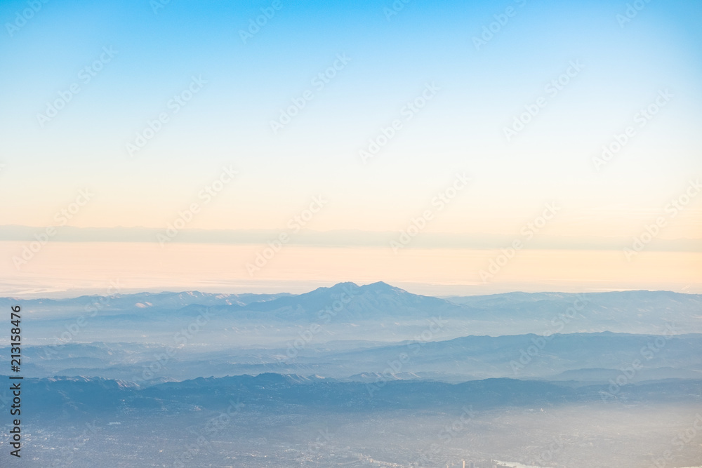
[{"label": "farthest blue range with twin-peaked mountain, including pale haze below it", "polygon": [[[114,291],[113,291],[114,292]],[[413,339],[431,323],[436,337],[535,333],[702,333],[702,296],[667,291],[505,293],[469,297],[416,295],[386,283],[340,283],[310,293],[139,293],[20,303],[32,323],[31,344],[172,342],[183,326],[210,345],[270,345],[312,333],[329,340]],[[81,318],[82,326],[75,326]],[[190,338],[188,339],[190,341]]]}]

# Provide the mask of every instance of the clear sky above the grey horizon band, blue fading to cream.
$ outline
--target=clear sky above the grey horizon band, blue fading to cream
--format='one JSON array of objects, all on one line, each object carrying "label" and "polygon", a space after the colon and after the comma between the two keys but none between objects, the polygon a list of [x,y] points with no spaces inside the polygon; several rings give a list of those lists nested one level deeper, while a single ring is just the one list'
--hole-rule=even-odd
[{"label": "clear sky above the grey horizon band, blue fading to cream", "polygon": [[[283,229],[324,194],[311,229],[397,232],[467,173],[469,189],[427,232],[510,236],[558,201],[550,235],[624,242],[702,172],[697,1],[642,2],[623,24],[618,1],[412,0],[391,16],[391,1],[172,0],[155,12],[147,0],[48,1],[8,26],[29,3],[0,5],[3,225],[45,227],[90,187],[95,198],[70,225],[159,229],[232,164],[239,178],[188,227]],[[243,41],[262,8],[274,15]],[[84,82],[105,48],[114,56]],[[315,87],[339,56],[350,60]],[[548,95],[574,62],[582,69]],[[193,77],[206,83],[174,113],[168,103]],[[42,126],[37,115],[76,84]],[[406,119],[426,86],[438,91]],[[665,90],[673,98],[635,126]],[[305,91],[312,99],[273,133]],[[539,98],[545,107],[506,140]],[[161,113],[161,130],[128,154]],[[359,151],[398,119],[362,163]],[[628,126],[635,136],[597,171],[592,159]],[[690,203],[661,238],[700,239],[701,213]]]}]

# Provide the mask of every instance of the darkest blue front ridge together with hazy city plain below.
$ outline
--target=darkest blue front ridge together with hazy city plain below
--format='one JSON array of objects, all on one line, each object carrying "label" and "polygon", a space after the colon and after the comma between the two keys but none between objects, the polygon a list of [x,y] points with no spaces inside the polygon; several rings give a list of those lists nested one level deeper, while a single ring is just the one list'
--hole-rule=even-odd
[{"label": "darkest blue front ridge together with hazy city plain below", "polygon": [[[472,460],[481,468],[639,468],[699,460],[691,442],[702,423],[695,413],[701,380],[641,382],[615,394],[606,384],[364,383],[271,373],[147,388],[96,377],[22,385],[22,460],[42,467],[110,460],[121,467],[400,468]],[[5,441],[0,436],[0,446]]]}]

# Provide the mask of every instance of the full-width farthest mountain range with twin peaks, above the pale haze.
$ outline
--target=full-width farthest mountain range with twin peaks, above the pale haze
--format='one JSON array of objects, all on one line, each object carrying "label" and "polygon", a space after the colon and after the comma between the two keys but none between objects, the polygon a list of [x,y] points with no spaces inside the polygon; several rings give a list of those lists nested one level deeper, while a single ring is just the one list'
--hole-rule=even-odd
[{"label": "full-width farthest mountain range with twin peaks, above the pale haze", "polygon": [[[575,330],[615,330],[640,333],[665,321],[680,323],[685,331],[702,323],[702,295],[669,291],[622,291],[608,293],[505,293],[441,299],[416,295],[378,282],[358,286],[338,283],[309,293],[211,294],[183,293],[117,294],[100,298],[81,296],[62,300],[0,299],[0,305],[20,303],[27,314],[42,320],[95,312],[95,321],[164,321],[197,317],[204,312],[227,320],[287,321],[295,323],[354,323],[356,321],[420,321],[440,317],[477,324],[499,324],[503,333],[524,333],[541,328],[558,333],[569,323]],[[92,316],[92,315],[91,315]],[[126,324],[126,323],[125,323]],[[52,325],[52,327],[58,324]],[[521,327],[521,328],[520,328]],[[58,328],[61,328],[58,326]],[[491,330],[494,327],[486,326]],[[498,329],[499,329],[498,328]],[[348,339],[348,337],[343,337]],[[352,339],[357,339],[354,337]]]}]

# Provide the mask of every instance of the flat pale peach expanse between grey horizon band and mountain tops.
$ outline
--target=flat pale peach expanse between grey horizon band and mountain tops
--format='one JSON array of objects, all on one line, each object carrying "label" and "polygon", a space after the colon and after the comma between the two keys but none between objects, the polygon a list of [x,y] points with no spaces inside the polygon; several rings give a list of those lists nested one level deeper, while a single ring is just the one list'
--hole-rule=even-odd
[{"label": "flat pale peach expanse between grey horizon band and mountain tops", "polygon": [[[253,272],[265,245],[136,242],[49,242],[16,269],[27,243],[0,241],[0,295],[121,292],[303,293],[341,281],[385,281],[412,293],[476,295],[514,290],[563,292],[618,289],[702,293],[702,253],[642,252],[628,262],[621,250],[520,250],[484,283],[500,255],[494,249],[283,246]],[[261,262],[259,262],[259,265]]]}]

